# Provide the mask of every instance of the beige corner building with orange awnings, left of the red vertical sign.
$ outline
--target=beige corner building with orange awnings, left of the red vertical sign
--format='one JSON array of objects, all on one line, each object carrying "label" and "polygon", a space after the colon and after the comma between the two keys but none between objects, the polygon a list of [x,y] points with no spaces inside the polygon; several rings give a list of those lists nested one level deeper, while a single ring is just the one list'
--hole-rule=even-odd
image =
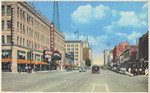
[{"label": "beige corner building with orange awnings, left of the red vertical sign", "polygon": [[24,70],[31,54],[31,68],[35,68],[35,61],[42,68],[48,65],[40,63],[43,50],[50,50],[50,22],[26,2],[2,2],[3,65],[9,60],[12,72],[17,72],[18,67]]}]

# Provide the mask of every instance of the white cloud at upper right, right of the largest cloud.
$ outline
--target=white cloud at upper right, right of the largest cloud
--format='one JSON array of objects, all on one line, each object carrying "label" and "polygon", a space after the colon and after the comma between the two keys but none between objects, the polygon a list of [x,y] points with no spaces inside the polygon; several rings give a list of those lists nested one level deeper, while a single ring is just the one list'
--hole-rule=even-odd
[{"label": "white cloud at upper right, right of the largest cloud", "polygon": [[119,12],[119,14],[121,16],[121,18],[117,22],[119,26],[122,26],[122,27],[139,26],[140,21],[134,12],[121,11]]}]

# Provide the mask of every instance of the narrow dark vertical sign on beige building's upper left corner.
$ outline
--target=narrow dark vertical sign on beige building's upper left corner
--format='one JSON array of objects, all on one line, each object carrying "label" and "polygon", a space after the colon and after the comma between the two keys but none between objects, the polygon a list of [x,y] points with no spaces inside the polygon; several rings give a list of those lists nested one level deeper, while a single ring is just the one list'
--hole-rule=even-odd
[{"label": "narrow dark vertical sign on beige building's upper left corner", "polygon": [[14,44],[14,8],[11,8],[11,44]]}]

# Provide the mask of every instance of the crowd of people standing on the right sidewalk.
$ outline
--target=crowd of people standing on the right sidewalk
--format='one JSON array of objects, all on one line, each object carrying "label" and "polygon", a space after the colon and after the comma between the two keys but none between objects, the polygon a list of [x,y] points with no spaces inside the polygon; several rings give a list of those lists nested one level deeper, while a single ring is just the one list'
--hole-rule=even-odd
[{"label": "crowd of people standing on the right sidewalk", "polygon": [[146,75],[148,76],[148,68],[144,68],[144,67],[140,67],[140,68],[127,68],[127,70],[129,73],[132,73],[134,76],[138,76],[138,75]]}]

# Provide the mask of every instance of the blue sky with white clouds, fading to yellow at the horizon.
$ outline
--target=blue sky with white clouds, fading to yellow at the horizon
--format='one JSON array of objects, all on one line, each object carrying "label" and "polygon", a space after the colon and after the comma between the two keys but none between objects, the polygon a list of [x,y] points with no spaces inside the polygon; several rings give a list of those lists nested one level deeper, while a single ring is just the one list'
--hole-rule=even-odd
[{"label": "blue sky with white clouds, fading to yellow at the horizon", "polygon": [[[52,1],[29,3],[52,22]],[[80,40],[85,41],[88,36],[95,64],[103,64],[105,49],[113,49],[126,40],[129,45],[136,45],[136,38],[148,31],[147,1],[59,1],[58,7],[65,40],[77,40],[78,30]]]}]

